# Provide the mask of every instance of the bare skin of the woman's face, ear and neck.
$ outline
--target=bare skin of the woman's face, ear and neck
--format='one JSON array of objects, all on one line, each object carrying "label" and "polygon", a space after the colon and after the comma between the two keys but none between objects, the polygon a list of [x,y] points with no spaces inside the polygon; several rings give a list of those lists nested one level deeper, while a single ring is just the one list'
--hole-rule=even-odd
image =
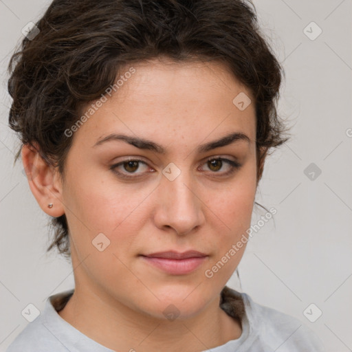
[{"label": "bare skin of the woman's face, ear and neck", "polygon": [[[22,149],[39,206],[52,217],[65,213],[69,224],[76,287],[59,315],[116,351],[204,351],[241,336],[241,324],[219,300],[245,245],[212,278],[205,271],[250,228],[260,178],[255,107],[240,111],[232,103],[241,92],[251,95],[221,63],[155,59],[133,67],[135,74],[74,133],[65,179],[33,148]],[[251,142],[197,153],[200,144],[230,132]],[[110,133],[144,137],[166,154],[116,140],[94,146]],[[131,180],[109,169],[128,157],[146,162],[115,169],[137,174]],[[209,157],[237,160],[241,168],[221,176],[230,165],[212,166]],[[173,181],[162,173],[170,162],[181,170]],[[91,243],[100,232],[110,241],[102,252]],[[198,250],[208,257],[184,275],[163,272],[140,257],[166,250]],[[179,311],[175,320],[163,314],[170,304]]]}]

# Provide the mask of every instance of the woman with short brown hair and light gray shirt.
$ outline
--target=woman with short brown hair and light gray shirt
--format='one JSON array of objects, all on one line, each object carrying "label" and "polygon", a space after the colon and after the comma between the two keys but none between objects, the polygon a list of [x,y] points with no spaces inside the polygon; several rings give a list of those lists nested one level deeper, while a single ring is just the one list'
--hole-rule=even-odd
[{"label": "woman with short brown hair and light gray shirt", "polygon": [[323,351],[226,286],[265,156],[288,140],[250,5],[54,0],[23,40],[10,126],[75,288],[8,352]]}]

